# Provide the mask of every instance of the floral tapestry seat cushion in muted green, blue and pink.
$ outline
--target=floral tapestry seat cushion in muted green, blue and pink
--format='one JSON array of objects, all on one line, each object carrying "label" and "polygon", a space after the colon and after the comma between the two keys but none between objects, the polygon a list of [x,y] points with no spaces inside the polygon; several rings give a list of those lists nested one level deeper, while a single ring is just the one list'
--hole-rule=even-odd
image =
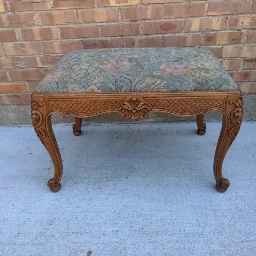
[{"label": "floral tapestry seat cushion in muted green, blue and pink", "polygon": [[118,48],[67,53],[37,93],[238,90],[208,50]]}]

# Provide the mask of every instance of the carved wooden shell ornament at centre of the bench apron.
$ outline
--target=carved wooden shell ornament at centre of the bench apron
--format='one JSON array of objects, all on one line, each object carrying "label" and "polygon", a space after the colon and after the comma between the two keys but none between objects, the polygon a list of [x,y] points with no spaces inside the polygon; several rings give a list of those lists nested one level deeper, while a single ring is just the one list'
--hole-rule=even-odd
[{"label": "carved wooden shell ornament at centre of the bench apron", "polygon": [[138,119],[147,116],[150,108],[145,102],[139,102],[138,99],[132,98],[129,102],[124,102],[123,105],[118,108],[118,111],[121,112],[122,116],[127,118]]}]

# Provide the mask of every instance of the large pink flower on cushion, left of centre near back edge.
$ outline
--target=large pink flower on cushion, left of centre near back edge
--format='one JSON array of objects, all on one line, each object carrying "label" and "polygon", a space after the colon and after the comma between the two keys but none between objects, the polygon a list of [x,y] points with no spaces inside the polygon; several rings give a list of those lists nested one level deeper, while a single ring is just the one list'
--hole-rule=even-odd
[{"label": "large pink flower on cushion, left of centre near back edge", "polygon": [[131,66],[127,60],[107,59],[99,65],[102,71],[109,74],[116,74],[119,70],[127,70]]}]

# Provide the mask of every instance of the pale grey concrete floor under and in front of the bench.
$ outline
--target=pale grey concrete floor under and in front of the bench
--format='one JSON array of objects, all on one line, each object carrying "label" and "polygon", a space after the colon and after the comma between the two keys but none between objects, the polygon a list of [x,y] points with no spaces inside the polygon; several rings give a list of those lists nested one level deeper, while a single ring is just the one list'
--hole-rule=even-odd
[{"label": "pale grey concrete floor under and in front of the bench", "polygon": [[0,127],[0,255],[256,255],[256,123],[244,122],[215,190],[221,123],[54,125],[61,190],[30,126]]}]

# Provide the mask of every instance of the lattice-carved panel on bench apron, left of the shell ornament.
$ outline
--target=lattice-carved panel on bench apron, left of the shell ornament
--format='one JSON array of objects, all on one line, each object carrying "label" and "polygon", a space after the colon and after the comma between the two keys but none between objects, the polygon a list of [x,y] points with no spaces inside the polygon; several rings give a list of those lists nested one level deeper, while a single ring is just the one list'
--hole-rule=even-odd
[{"label": "lattice-carved panel on bench apron, left of the shell ornament", "polygon": [[48,100],[49,109],[61,109],[67,112],[84,113],[102,109],[114,109],[121,102],[120,99],[74,99]]}]

